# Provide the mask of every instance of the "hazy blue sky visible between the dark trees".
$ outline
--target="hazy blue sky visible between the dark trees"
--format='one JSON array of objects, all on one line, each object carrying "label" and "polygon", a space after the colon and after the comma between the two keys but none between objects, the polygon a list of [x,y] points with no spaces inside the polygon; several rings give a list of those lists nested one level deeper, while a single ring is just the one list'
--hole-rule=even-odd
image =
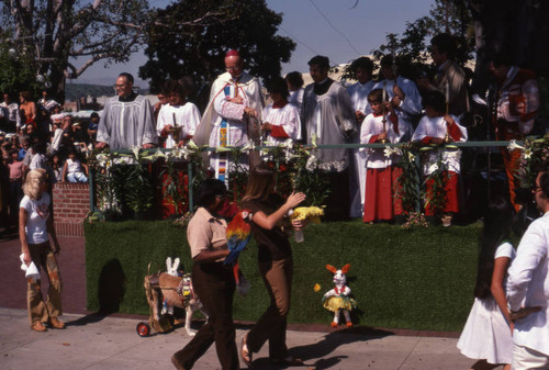
[{"label": "hazy blue sky visible between the dark trees", "polygon": [[[298,44],[290,63],[282,72],[306,71],[307,60],[322,54],[333,65],[347,63],[359,54],[370,54],[385,42],[388,33],[402,33],[406,22],[427,15],[434,0],[268,0],[277,13],[283,13],[279,34]],[[170,1],[150,1],[163,7]],[[320,10],[317,10],[316,8]],[[325,15],[323,16],[321,12]],[[136,53],[127,64],[113,64],[104,68],[98,63],[74,82],[110,85],[122,71],[137,77],[139,66],[146,63],[143,53]],[[142,87],[147,83],[137,81]]]}]

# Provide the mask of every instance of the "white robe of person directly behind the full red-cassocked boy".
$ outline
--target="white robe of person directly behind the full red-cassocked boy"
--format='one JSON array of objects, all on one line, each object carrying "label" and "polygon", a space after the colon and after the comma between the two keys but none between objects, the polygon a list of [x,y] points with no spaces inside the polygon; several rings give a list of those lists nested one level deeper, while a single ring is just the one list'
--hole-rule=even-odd
[{"label": "white robe of person directly behind the full red-cassocked boy", "polygon": [[[372,80],[366,83],[354,83],[347,88],[355,112],[360,111],[365,115],[372,112],[368,102],[368,94],[372,90],[376,82]],[[359,135],[355,136],[355,143],[360,142]],[[361,217],[365,210],[365,190],[366,190],[366,158],[363,150],[359,148],[352,149],[354,173],[350,176],[350,216]]]}]

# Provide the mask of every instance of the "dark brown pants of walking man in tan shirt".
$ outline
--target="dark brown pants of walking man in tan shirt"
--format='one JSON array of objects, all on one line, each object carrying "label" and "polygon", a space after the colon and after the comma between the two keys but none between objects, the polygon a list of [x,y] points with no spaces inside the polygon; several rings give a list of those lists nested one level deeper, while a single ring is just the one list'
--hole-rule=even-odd
[{"label": "dark brown pants of walking man in tan shirt", "polygon": [[175,356],[186,369],[191,369],[194,362],[215,341],[222,370],[238,370],[236,333],[233,324],[235,281],[231,267],[219,262],[194,262],[192,285],[202,302],[202,310],[208,314],[208,322],[202,325],[192,340]]}]

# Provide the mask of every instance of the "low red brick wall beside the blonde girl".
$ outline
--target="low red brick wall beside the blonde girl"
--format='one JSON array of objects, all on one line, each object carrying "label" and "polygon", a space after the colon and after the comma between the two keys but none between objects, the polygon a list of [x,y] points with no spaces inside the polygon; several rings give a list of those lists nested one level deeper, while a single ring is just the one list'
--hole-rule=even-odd
[{"label": "low red brick wall beside the blonde girl", "polygon": [[90,210],[87,183],[54,184],[54,226],[57,236],[83,236],[83,218]]}]

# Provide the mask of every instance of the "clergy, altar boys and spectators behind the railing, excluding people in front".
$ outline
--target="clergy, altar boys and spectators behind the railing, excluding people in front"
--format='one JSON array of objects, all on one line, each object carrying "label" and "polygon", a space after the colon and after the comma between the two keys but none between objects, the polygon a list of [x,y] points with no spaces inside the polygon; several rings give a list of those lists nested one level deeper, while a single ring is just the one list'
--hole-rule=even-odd
[{"label": "clergy, altar boys and spectators behind the railing, excluding people in front", "polygon": [[[184,79],[167,81],[158,94],[158,103],[153,105],[134,91],[134,78],[130,74],[119,76],[114,85],[116,96],[107,101],[101,117],[93,113],[89,122],[75,121],[70,114],[63,113],[61,105],[49,99],[46,91],[36,103],[26,91],[21,92],[19,104],[4,94],[2,126],[13,133],[0,136],[2,170],[10,171],[2,178],[13,183],[10,194],[19,194],[10,198],[20,199],[25,169],[42,166],[52,171],[54,181],[87,181],[82,154],[93,147],[173,148],[190,138],[198,145],[214,148],[244,146],[250,141],[276,145],[289,138],[321,145],[413,142],[440,146],[464,142],[472,115],[470,78],[453,60],[457,45],[450,35],[439,34],[430,43],[436,68],[430,76],[405,78],[400,74],[403,66],[386,55],[381,58],[379,79],[374,81],[373,61],[360,57],[350,65],[357,82],[344,87],[328,77],[328,58],[317,55],[309,61],[313,83],[304,87],[300,72],[266,81],[271,101],[268,105],[259,79],[245,70],[237,51],[226,54],[226,72],[213,82],[209,103],[202,110],[189,97]],[[491,72],[497,81],[495,135],[506,141],[524,138],[535,130],[539,108],[536,77],[513,66],[503,54],[492,58]],[[18,150],[16,160],[14,154],[10,154],[14,150]],[[69,158],[69,152],[76,154]],[[501,153],[509,199],[518,210],[516,171],[520,152],[504,148]],[[32,160],[35,154],[38,157]],[[317,149],[314,156],[330,183],[326,218],[362,217],[365,223],[374,223],[402,217],[402,170],[396,166],[397,154],[388,156],[383,148],[339,147]],[[445,225],[450,225],[463,204],[458,189],[461,152],[433,150],[422,162],[425,178],[438,168],[435,165],[440,156],[445,169],[444,206],[435,210],[425,201],[425,213],[436,213]],[[223,181],[227,181],[232,160],[227,152],[209,152],[210,169]],[[23,166],[19,161],[23,161]],[[259,161],[253,153],[242,156],[238,165],[253,168]],[[433,182],[427,181],[425,199],[435,192]],[[2,193],[8,192],[5,189]]]}]

